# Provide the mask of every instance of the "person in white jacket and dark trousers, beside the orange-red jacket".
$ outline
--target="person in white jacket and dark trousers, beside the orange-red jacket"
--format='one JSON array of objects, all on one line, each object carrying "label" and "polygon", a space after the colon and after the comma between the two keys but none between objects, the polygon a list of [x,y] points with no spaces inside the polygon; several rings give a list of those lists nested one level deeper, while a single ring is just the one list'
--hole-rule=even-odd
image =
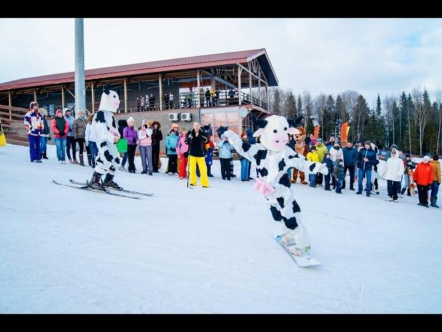
[{"label": "person in white jacket and dark trousers, beside the orange-red jacket", "polygon": [[379,173],[379,176],[387,180],[388,197],[385,201],[398,203],[398,189],[401,186],[404,171],[405,167],[403,166],[403,160],[399,158],[399,152],[392,150],[391,158],[388,158],[385,167]]}]

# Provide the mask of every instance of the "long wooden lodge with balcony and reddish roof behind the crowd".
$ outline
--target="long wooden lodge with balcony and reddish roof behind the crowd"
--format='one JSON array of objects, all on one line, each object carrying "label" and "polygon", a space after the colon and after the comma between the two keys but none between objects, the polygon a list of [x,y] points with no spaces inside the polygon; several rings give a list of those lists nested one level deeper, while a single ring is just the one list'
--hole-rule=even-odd
[{"label": "long wooden lodge with balcony and reddish roof behind the crowd", "polygon": [[[210,123],[214,133],[221,125],[240,133],[251,127],[251,113],[258,118],[271,114],[268,89],[278,85],[264,48],[89,69],[85,80],[86,116],[97,111],[108,86],[119,90],[122,100],[116,120],[132,116],[135,127],[144,118],[157,120],[163,135],[175,122],[191,129],[193,121]],[[23,116],[32,101],[49,118],[57,109],[75,113],[74,82],[70,72],[1,83],[0,118],[8,142],[28,142]],[[207,99],[207,89],[218,91]],[[218,141],[216,134],[213,140]]]}]

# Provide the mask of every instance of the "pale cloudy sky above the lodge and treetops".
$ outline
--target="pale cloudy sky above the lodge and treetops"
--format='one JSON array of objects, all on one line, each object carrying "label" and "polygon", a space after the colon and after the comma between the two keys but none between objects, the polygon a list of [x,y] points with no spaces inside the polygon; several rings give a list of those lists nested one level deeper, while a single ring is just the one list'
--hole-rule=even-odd
[{"label": "pale cloudy sky above the lodge and treetops", "polygon": [[[86,69],[266,48],[298,94],[442,91],[442,19],[84,19]],[[0,82],[74,71],[74,19],[0,19]]]}]

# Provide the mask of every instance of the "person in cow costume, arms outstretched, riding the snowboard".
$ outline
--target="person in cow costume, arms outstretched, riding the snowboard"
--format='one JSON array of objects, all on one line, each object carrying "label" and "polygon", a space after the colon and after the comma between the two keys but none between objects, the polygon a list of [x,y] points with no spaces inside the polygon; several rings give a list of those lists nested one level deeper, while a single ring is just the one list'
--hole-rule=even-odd
[{"label": "person in cow costume, arms outstretched, riding the snowboard", "polygon": [[280,243],[293,245],[296,252],[294,255],[305,255],[310,249],[309,236],[300,220],[300,207],[296,203],[287,169],[296,167],[306,174],[328,174],[327,166],[305,160],[302,154],[286,145],[289,137],[287,133],[300,133],[294,121],[287,121],[282,116],[269,116],[265,120],[253,118],[253,122],[256,127],[253,136],[260,137],[260,142],[254,145],[244,142],[231,130],[225,131],[224,136],[229,138],[238,154],[249,159],[259,169],[260,176],[256,179],[254,189],[271,204],[273,219],[284,221]]}]

